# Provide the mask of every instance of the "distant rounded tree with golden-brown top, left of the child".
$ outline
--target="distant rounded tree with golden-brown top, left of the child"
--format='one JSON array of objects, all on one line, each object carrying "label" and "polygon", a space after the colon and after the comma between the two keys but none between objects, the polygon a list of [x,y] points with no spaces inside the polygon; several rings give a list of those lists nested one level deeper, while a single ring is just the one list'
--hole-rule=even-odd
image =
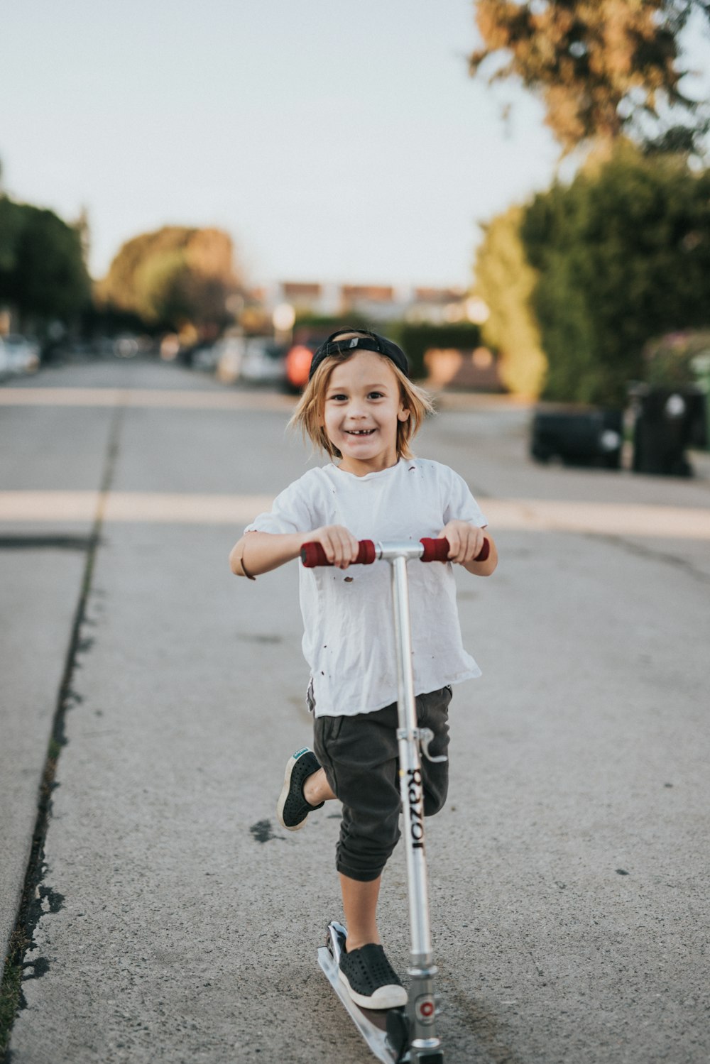
[{"label": "distant rounded tree with golden-brown top, left of the child", "polygon": [[166,226],[123,244],[97,285],[97,299],[148,325],[205,330],[230,320],[227,300],[238,288],[227,233]]}]

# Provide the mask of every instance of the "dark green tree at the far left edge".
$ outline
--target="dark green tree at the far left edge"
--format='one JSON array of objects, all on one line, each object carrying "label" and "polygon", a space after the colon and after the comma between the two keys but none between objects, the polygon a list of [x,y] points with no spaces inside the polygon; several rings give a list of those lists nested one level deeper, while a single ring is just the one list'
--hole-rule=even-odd
[{"label": "dark green tree at the far left edge", "polygon": [[82,236],[52,211],[0,197],[0,300],[35,328],[68,323],[88,304]]}]

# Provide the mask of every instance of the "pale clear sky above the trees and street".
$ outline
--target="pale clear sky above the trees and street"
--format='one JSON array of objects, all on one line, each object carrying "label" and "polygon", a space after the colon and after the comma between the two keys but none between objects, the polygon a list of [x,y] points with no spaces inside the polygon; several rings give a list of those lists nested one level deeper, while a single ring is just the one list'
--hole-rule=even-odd
[{"label": "pale clear sky above the trees and street", "polygon": [[184,225],[251,284],[463,287],[558,164],[538,101],[468,76],[472,0],[22,0],[2,37],[3,188],[85,210],[96,278]]}]

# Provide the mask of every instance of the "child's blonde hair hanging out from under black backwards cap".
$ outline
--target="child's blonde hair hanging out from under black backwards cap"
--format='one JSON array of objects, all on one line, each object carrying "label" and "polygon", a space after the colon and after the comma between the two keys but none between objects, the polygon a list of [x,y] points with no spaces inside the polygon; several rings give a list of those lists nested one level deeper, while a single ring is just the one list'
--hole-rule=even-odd
[{"label": "child's blonde hair hanging out from under black backwards cap", "polygon": [[[343,332],[333,336],[333,340],[352,339],[356,336],[366,336],[364,332]],[[335,366],[342,365],[357,354],[356,350],[341,351],[337,354],[330,354],[318,364],[313,377],[308,382],[303,395],[301,396],[296,410],[288,421],[290,429],[300,429],[303,437],[311,440],[316,450],[326,451],[331,459],[343,458],[342,453],[331,444],[326,434],[325,427],[320,423],[326,405],[326,392],[330,382],[330,376]],[[397,458],[411,459],[414,455],[409,446],[410,439],[416,435],[426,418],[427,414],[433,414],[434,408],[431,399],[424,388],[418,387],[410,381],[409,377],[384,354],[377,354],[378,359],[392,369],[399,383],[399,395],[402,405],[409,411],[409,417],[404,421],[397,421]]]}]

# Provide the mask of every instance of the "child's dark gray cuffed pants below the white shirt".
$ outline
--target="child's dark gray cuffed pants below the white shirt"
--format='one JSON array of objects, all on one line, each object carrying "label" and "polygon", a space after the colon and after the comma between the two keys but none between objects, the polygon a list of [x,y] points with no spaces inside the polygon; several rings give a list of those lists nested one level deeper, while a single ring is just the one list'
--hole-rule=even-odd
[{"label": "child's dark gray cuffed pants below the white shirt", "polygon": [[[416,696],[417,721],[431,728],[433,755],[449,743],[451,688]],[[350,879],[377,879],[399,838],[399,758],[397,703],[357,716],[316,717],[313,749],[328,782],[343,802],[335,866]],[[425,816],[444,807],[448,762],[422,759]]]}]

